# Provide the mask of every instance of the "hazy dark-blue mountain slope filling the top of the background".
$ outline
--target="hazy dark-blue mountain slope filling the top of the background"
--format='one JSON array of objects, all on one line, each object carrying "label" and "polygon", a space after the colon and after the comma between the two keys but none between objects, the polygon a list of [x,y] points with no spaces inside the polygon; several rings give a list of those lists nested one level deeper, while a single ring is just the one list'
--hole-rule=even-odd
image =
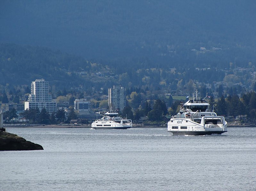
[{"label": "hazy dark-blue mountain slope filling the top of the background", "polygon": [[[256,60],[253,0],[3,0],[0,4],[0,42],[45,46],[110,62],[148,59],[152,66]],[[201,47],[222,51],[198,58],[191,49]]]}]

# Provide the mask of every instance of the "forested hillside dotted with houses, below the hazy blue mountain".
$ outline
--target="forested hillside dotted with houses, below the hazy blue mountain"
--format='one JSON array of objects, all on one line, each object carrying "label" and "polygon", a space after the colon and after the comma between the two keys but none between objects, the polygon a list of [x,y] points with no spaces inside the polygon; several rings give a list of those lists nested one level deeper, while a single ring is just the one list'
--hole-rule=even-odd
[{"label": "forested hillside dotted with houses, below the hazy blue mountain", "polygon": [[[107,90],[112,85],[127,89],[139,89],[154,93],[187,93],[207,86],[211,92],[222,84],[241,92],[255,89],[255,62],[237,68],[232,62],[225,70],[217,66],[182,64],[151,67],[145,62],[123,63],[115,67],[108,62],[94,62],[49,48],[0,44],[0,76],[2,90],[8,84],[29,85],[35,79],[44,78],[55,86],[53,91],[76,89],[91,92]],[[204,85],[207,84],[207,85]],[[205,90],[206,91],[206,90]],[[210,90],[208,90],[209,92]],[[137,91],[138,92],[138,91]]]}]

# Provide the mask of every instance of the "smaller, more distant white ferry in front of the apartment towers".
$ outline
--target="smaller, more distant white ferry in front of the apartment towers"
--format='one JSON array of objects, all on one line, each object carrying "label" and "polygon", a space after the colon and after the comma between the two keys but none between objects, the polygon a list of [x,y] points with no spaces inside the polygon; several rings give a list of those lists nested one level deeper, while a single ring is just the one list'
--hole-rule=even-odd
[{"label": "smaller, more distant white ferry in front of the apartment towers", "polygon": [[108,111],[101,119],[92,122],[94,129],[129,129],[132,127],[132,120],[118,117],[118,113]]}]

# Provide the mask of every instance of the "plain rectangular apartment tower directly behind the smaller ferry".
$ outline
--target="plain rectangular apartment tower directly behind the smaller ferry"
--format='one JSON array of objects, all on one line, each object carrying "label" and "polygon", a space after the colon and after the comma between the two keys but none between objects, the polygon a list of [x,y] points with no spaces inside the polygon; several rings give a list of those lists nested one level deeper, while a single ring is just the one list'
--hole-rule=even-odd
[{"label": "plain rectangular apartment tower directly behind the smaller ferry", "polygon": [[112,111],[120,109],[123,111],[126,106],[126,89],[120,85],[114,85],[113,88],[108,89],[108,106]]}]

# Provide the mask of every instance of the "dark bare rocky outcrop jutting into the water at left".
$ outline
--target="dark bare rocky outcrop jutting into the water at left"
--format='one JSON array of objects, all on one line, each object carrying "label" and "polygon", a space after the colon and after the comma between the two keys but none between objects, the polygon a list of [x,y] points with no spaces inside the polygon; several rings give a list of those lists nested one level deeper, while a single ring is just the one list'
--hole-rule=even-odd
[{"label": "dark bare rocky outcrop jutting into the water at left", "polygon": [[32,143],[12,133],[0,131],[0,151],[44,150],[39,144]]}]

